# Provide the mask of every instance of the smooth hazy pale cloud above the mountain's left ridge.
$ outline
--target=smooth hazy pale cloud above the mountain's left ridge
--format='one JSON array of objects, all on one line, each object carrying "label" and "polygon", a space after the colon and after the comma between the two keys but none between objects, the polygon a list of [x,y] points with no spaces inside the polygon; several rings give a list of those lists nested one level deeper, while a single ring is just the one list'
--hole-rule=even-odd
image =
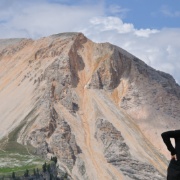
[{"label": "smooth hazy pale cloud above the mountain's left ridge", "polygon": [[23,7],[12,4],[6,9],[1,9],[0,38],[48,36],[59,32],[78,30],[93,16],[102,15],[101,7],[92,6],[67,6],[63,4],[28,3]]}]

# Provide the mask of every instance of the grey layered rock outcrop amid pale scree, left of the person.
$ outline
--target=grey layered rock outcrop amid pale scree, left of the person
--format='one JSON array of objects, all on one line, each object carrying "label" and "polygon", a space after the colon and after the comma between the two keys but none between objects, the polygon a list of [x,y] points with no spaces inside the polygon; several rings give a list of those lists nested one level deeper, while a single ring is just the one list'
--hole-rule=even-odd
[{"label": "grey layered rock outcrop amid pale scree, left of the person", "polygon": [[107,120],[97,120],[95,137],[103,144],[108,163],[122,171],[125,176],[137,180],[165,178],[152,165],[132,157],[121,133]]}]

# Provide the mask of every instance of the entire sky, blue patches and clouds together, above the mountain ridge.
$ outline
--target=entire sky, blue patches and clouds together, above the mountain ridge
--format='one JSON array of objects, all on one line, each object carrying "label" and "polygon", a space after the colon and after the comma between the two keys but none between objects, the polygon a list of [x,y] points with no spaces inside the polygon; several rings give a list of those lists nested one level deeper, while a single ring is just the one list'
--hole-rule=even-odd
[{"label": "entire sky, blue patches and clouds together, above the mountain ridge", "polygon": [[0,0],[0,38],[61,32],[115,44],[180,84],[179,0]]}]

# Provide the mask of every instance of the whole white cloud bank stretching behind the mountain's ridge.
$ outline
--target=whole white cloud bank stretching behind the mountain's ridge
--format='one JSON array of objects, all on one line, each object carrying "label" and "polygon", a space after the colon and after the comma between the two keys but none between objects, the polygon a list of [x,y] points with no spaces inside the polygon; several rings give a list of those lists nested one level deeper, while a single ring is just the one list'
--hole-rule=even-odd
[{"label": "whole white cloud bank stretching behind the mountain's ridge", "polygon": [[[0,38],[39,38],[81,31],[95,42],[118,45],[180,83],[180,29],[136,29],[117,16],[107,16],[103,4],[63,5],[45,0],[4,0],[0,5]],[[113,9],[114,8],[114,9]],[[121,12],[120,7],[111,11]]]}]

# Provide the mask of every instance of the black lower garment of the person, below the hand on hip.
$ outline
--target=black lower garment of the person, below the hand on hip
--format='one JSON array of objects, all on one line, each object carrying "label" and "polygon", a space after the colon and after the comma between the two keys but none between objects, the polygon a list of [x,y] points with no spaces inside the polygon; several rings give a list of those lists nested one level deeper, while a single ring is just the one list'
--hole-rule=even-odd
[{"label": "black lower garment of the person, below the hand on hip", "polygon": [[176,161],[175,159],[170,161],[167,180],[180,180],[180,161]]}]

